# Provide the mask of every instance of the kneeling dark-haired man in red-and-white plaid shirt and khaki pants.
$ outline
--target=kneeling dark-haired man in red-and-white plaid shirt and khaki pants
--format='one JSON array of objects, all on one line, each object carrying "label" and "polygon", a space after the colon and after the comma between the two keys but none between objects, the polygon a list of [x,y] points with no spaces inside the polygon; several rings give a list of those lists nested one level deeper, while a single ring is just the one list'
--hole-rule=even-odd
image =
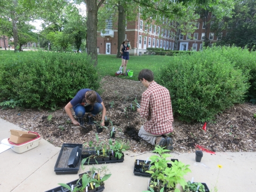
[{"label": "kneeling dark-haired man in red-and-white plaid shirt and khaki pants", "polygon": [[151,145],[159,145],[173,150],[172,139],[166,134],[173,131],[172,104],[170,92],[154,81],[154,74],[149,69],[143,69],[138,76],[139,81],[147,87],[141,97],[140,108],[137,111],[147,122],[141,126],[139,137]]}]

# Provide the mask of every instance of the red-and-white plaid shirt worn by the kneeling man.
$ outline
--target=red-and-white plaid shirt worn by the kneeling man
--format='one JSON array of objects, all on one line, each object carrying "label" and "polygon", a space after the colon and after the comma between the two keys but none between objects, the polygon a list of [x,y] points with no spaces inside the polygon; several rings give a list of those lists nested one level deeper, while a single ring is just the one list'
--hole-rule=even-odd
[{"label": "red-and-white plaid shirt worn by the kneeling man", "polygon": [[165,134],[173,131],[172,103],[169,90],[155,81],[143,92],[140,102],[140,115],[147,119],[145,131]]}]

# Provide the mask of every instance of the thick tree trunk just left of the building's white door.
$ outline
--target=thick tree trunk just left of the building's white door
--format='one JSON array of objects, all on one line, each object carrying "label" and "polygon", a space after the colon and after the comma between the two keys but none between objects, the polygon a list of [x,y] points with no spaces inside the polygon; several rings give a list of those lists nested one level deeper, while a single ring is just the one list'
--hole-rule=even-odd
[{"label": "thick tree trunk just left of the building's white door", "polygon": [[98,64],[97,58],[97,24],[98,24],[98,9],[97,1],[89,0],[86,2],[87,6],[87,54],[91,55],[92,59],[95,60],[94,66]]}]

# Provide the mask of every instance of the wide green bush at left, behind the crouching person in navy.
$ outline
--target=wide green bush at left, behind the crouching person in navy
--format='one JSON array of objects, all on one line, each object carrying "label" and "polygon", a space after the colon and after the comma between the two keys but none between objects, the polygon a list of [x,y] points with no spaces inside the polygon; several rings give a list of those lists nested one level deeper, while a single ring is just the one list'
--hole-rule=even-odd
[{"label": "wide green bush at left, behind the crouching person in navy", "polygon": [[80,89],[98,87],[98,73],[86,54],[17,53],[0,66],[0,100],[20,101],[22,107],[54,108]]}]

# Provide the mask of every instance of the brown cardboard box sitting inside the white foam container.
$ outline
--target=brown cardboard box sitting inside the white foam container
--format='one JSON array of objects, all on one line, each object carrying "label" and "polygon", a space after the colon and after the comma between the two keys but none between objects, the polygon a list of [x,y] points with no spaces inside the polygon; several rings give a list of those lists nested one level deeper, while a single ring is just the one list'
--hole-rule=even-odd
[{"label": "brown cardboard box sitting inside the white foam container", "polygon": [[9,141],[20,144],[38,137],[38,134],[29,131],[11,130]]}]

